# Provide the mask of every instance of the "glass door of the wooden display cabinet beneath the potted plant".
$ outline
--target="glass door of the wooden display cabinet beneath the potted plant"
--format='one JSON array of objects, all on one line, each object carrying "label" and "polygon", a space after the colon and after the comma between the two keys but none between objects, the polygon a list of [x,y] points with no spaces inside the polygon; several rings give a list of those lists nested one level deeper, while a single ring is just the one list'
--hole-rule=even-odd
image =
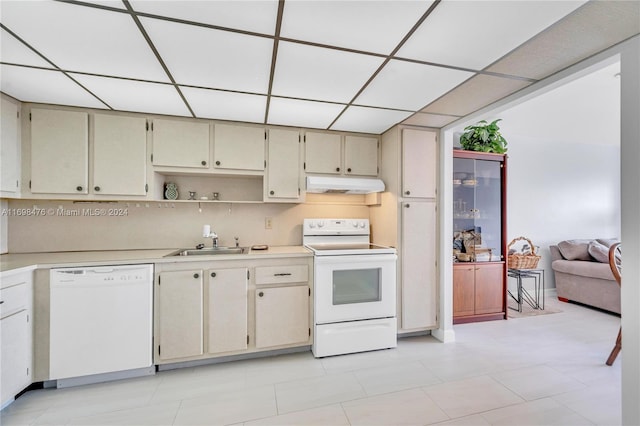
[{"label": "glass door of the wooden display cabinet beneath the potted plant", "polygon": [[453,248],[456,261],[502,259],[502,181],[499,161],[453,159]]}]

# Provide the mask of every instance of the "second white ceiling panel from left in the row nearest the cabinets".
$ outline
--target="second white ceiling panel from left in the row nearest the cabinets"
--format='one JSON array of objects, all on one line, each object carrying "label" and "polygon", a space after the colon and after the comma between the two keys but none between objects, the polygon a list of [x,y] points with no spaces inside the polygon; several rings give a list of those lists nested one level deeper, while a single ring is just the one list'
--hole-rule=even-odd
[{"label": "second white ceiling panel from left in the row nearest the cabinets", "polygon": [[72,74],[72,76],[113,109],[191,116],[180,95],[170,84],[81,74]]}]

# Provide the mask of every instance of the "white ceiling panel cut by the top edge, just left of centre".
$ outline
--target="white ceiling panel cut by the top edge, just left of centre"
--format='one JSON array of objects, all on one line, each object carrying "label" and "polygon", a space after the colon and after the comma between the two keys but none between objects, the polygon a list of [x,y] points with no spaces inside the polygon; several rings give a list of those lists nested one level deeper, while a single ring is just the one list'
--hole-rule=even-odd
[{"label": "white ceiling panel cut by the top edge, just left of centre", "polygon": [[136,12],[183,19],[185,21],[273,35],[278,2],[261,1],[149,1],[133,0]]}]

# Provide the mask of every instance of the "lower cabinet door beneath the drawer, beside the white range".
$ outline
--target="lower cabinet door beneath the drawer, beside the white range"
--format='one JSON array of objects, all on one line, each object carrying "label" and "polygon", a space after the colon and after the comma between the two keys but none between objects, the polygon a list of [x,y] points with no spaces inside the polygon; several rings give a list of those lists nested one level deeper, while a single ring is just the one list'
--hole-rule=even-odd
[{"label": "lower cabinet door beneath the drawer, beside the white range", "polygon": [[309,342],[309,287],[256,289],[256,348]]}]

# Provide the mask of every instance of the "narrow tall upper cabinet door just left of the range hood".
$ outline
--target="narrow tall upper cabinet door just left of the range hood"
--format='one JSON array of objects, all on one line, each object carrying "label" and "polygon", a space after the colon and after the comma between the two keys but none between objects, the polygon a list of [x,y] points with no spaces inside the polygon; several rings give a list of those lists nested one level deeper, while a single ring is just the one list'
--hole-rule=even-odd
[{"label": "narrow tall upper cabinet door just left of the range hood", "polygon": [[300,198],[300,133],[269,130],[265,200],[293,201]]}]

